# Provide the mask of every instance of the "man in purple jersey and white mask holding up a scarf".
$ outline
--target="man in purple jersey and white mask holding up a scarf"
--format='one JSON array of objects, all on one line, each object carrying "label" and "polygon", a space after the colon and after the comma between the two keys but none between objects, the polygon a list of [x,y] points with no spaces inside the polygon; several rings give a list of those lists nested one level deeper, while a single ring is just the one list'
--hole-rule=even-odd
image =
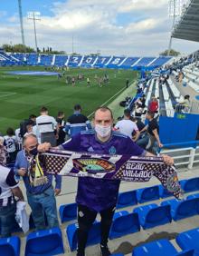
[{"label": "man in purple jersey and white mask holding up a scarf", "polygon": [[[81,132],[66,143],[62,143],[59,148],[81,153],[152,155],[137,146],[128,136],[112,131],[113,116],[109,108],[98,108],[94,114],[93,123],[94,131]],[[38,147],[38,150],[45,152],[50,147],[49,143],[43,143]],[[164,160],[167,163],[173,163],[173,160],[167,156],[164,157]],[[85,255],[88,233],[98,212],[101,216],[101,255],[111,255],[108,248],[108,238],[118,200],[119,183],[118,180],[79,178],[76,197],[79,224],[78,256]]]}]

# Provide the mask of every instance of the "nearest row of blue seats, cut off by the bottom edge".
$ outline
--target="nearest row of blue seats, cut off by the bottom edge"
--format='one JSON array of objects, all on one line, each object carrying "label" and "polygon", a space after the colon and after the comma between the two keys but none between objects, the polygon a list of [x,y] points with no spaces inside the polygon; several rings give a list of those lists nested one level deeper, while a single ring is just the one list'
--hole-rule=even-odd
[{"label": "nearest row of blue seats, cut off by the bottom edge", "polygon": [[[95,233],[92,233],[95,236]],[[96,238],[96,236],[95,236]],[[90,237],[89,237],[90,239]],[[177,235],[176,242],[183,251],[176,251],[174,245],[166,240],[151,241],[137,246],[132,256],[199,256],[199,228],[184,231]],[[0,253],[3,256],[20,255],[20,239],[16,236],[0,240]],[[53,228],[48,231],[30,233],[26,238],[25,256],[50,256],[64,253],[62,231]],[[122,256],[123,254],[112,254]]]}]

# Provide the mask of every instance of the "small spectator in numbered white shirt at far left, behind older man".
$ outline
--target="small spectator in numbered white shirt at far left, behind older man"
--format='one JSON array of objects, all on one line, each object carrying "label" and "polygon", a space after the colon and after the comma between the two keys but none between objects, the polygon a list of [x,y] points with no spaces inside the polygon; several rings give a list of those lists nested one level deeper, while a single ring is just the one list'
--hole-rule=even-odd
[{"label": "small spectator in numbered white shirt at far left, behind older man", "polygon": [[4,136],[4,140],[6,152],[8,153],[6,162],[14,162],[16,158],[16,137],[13,128],[7,129],[6,135]]}]

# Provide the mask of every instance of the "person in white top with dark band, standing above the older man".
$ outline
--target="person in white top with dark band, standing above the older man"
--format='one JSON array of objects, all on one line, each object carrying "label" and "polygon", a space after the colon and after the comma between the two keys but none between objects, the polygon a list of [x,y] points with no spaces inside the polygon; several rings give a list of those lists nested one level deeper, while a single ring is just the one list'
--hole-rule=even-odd
[{"label": "person in white top with dark band, standing above the older man", "polygon": [[48,115],[48,109],[42,107],[40,116],[36,118],[37,132],[41,134],[41,143],[51,143],[56,146],[56,134],[58,134],[57,122]]}]

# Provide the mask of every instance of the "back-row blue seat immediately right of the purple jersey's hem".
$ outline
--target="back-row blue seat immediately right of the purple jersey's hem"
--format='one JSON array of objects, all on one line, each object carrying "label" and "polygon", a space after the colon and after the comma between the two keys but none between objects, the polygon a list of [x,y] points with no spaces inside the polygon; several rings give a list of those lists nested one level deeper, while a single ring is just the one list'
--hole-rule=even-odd
[{"label": "back-row blue seat immediately right of the purple jersey's hem", "polygon": [[136,191],[131,192],[121,192],[118,194],[117,208],[128,207],[130,205],[137,204],[137,194]]}]

